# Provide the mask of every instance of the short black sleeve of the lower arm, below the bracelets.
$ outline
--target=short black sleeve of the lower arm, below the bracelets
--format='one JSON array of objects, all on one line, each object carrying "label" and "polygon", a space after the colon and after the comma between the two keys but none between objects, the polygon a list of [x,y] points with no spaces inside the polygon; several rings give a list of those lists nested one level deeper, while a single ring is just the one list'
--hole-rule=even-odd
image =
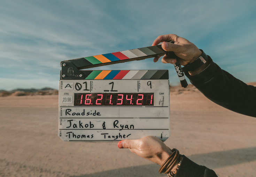
[{"label": "short black sleeve of the lower arm, below the bracelets", "polygon": [[197,165],[183,155],[179,170],[174,177],[217,177],[217,175],[213,170]]}]

